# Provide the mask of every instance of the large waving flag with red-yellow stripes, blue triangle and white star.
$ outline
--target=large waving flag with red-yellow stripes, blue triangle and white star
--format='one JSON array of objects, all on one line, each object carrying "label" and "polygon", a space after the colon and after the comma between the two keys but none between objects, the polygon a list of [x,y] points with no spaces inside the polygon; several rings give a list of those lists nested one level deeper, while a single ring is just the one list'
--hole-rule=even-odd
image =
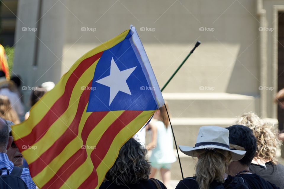
[{"label": "large waving flag with red-yellow stripes, blue triangle and white star", "polygon": [[120,147],[163,104],[131,26],[76,61],[13,137],[39,188],[99,188]]}]

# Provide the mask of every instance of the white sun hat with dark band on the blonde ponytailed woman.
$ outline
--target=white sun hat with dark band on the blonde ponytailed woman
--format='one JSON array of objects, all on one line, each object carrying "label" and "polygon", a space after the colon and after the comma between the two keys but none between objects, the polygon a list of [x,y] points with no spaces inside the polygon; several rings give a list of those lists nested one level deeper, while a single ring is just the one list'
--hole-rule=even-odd
[{"label": "white sun hat with dark band on the blonde ponytailed woman", "polygon": [[192,157],[197,157],[199,153],[196,150],[214,150],[220,149],[230,151],[232,160],[238,161],[244,157],[246,151],[231,150],[229,143],[229,130],[217,126],[203,126],[199,128],[195,146],[179,145],[180,151]]}]

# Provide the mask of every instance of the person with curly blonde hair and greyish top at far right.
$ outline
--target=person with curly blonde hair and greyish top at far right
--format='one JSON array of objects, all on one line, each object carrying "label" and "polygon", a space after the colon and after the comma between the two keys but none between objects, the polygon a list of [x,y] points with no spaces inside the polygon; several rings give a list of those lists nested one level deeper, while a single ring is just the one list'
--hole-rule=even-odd
[{"label": "person with curly blonde hair and greyish top at far right", "polygon": [[278,129],[255,113],[245,113],[236,124],[249,127],[256,137],[257,148],[249,169],[279,188],[284,188],[284,166],[278,163],[276,150],[280,146]]}]

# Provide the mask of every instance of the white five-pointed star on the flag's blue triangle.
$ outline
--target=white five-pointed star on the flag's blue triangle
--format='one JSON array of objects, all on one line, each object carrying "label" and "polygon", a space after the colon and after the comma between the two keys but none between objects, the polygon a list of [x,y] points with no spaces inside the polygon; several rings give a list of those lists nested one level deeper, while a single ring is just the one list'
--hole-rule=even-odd
[{"label": "white five-pointed star on the flag's blue triangle", "polygon": [[126,80],[130,76],[130,74],[132,74],[135,68],[136,66],[133,68],[120,71],[112,58],[112,61],[110,63],[110,75],[96,81],[97,83],[103,84],[110,88],[109,105],[112,103],[114,97],[117,95],[119,91],[131,95]]}]

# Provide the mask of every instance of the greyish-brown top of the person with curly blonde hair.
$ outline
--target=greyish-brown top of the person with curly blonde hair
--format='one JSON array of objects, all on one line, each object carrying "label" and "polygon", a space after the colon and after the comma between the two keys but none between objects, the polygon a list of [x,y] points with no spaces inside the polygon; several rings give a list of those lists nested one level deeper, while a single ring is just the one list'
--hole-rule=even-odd
[{"label": "greyish-brown top of the person with curly blonde hair", "polygon": [[[265,168],[266,167],[266,168]],[[251,164],[249,169],[264,180],[275,184],[277,187],[284,188],[284,166],[281,164],[274,165],[272,162],[267,162],[265,165]]]}]

